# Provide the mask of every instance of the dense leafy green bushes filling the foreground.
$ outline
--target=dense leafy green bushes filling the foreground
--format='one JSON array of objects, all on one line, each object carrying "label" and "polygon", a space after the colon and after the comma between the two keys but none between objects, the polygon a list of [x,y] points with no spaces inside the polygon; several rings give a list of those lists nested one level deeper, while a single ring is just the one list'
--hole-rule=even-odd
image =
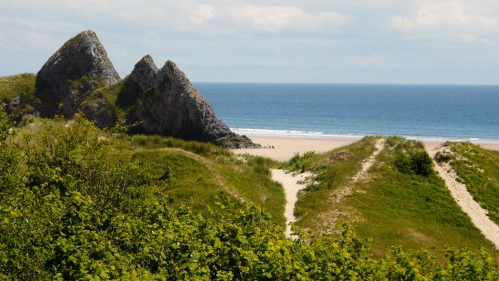
[{"label": "dense leafy green bushes filling the foreground", "polygon": [[[22,146],[0,112],[0,279],[496,279],[485,251],[393,248],[374,258],[348,227],[290,240],[251,203],[172,208],[83,118],[47,121]],[[266,171],[265,171],[266,172]],[[216,215],[215,215],[216,214]],[[445,259],[444,263],[441,260]]]}]

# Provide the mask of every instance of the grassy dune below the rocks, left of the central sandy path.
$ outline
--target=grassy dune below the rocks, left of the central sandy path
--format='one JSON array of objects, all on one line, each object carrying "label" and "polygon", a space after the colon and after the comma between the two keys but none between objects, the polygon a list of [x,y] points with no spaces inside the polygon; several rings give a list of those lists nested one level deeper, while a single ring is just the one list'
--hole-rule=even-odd
[{"label": "grassy dune below the rocks, left of the central sandy path", "polygon": [[229,158],[210,159],[178,148],[130,153],[152,178],[169,180],[167,195],[174,206],[187,205],[206,215],[208,206],[214,207],[224,193],[229,193],[260,206],[273,222],[284,226],[284,192],[281,185],[270,180],[265,160],[258,158],[244,163]]}]

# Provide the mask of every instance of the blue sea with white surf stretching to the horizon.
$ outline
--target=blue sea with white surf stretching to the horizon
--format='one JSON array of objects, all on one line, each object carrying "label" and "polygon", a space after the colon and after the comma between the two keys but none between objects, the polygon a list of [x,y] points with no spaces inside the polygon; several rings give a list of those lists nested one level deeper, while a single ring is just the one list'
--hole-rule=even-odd
[{"label": "blue sea with white surf stretching to the horizon", "polygon": [[195,83],[195,87],[236,131],[499,140],[498,85]]}]

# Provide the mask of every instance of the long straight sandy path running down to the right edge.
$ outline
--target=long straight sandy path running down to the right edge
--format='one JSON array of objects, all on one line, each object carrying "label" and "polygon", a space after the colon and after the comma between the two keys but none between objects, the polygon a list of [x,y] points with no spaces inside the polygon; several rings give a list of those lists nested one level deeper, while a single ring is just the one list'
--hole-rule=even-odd
[{"label": "long straight sandy path running down to the right edge", "polygon": [[[428,153],[434,158],[437,152],[442,149],[443,147],[438,147]],[[474,201],[466,189],[466,185],[456,180],[456,172],[448,163],[437,163],[434,160],[434,164],[440,177],[445,180],[445,185],[456,203],[468,214],[473,224],[480,229],[484,236],[499,249],[499,227],[487,217],[487,211],[477,201]]]}]

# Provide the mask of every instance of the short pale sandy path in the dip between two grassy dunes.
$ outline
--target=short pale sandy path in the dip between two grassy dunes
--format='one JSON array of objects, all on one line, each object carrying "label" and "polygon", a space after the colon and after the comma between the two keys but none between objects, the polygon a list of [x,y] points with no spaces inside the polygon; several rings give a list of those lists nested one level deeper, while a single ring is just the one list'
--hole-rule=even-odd
[{"label": "short pale sandy path in the dip between two grassy dunes", "polygon": [[[282,185],[284,188],[284,194],[286,196],[286,207],[284,210],[284,217],[286,218],[286,236],[291,237],[291,226],[296,218],[294,218],[294,204],[298,200],[298,191],[305,188],[307,184],[298,183],[303,182],[305,178],[312,175],[310,172],[303,172],[293,176],[291,172],[280,169],[271,169],[272,179]],[[286,174],[287,172],[287,174]]]}]

